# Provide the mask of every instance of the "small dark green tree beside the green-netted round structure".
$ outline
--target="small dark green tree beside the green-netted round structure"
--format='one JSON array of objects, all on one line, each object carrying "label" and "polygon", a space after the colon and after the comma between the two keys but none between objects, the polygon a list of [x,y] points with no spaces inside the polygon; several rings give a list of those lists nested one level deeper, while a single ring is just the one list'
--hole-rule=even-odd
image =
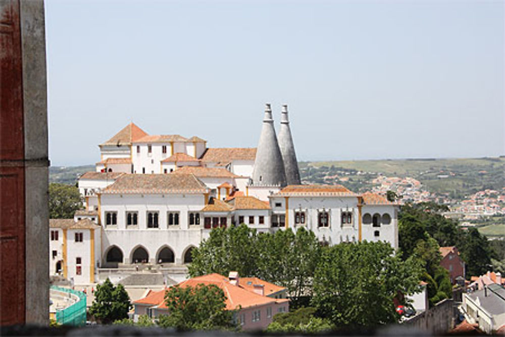
[{"label": "small dark green tree beside the green-netted round structure", "polygon": [[128,318],[131,309],[130,297],[122,284],[114,286],[107,278],[103,284],[96,286],[95,299],[89,314],[104,324]]}]

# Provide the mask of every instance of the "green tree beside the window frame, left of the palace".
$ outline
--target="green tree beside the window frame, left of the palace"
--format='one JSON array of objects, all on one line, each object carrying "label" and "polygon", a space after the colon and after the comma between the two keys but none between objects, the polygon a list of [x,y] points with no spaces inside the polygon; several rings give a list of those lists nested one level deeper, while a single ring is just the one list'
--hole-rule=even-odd
[{"label": "green tree beside the window frame, left of the palace", "polygon": [[71,219],[80,208],[82,198],[77,187],[56,182],[49,184],[49,218]]}]

